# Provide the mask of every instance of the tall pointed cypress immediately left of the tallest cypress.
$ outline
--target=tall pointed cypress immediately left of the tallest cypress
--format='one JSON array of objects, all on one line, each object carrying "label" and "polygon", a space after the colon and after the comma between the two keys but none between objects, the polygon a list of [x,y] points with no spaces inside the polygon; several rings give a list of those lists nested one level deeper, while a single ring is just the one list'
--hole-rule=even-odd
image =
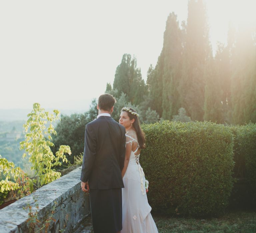
[{"label": "tall pointed cypress immediately left of the tallest cypress", "polygon": [[150,108],[164,119],[171,119],[179,106],[177,91],[182,55],[182,31],[177,15],[172,12],[166,21],[163,48],[155,69],[150,66],[147,84],[152,99]]}]

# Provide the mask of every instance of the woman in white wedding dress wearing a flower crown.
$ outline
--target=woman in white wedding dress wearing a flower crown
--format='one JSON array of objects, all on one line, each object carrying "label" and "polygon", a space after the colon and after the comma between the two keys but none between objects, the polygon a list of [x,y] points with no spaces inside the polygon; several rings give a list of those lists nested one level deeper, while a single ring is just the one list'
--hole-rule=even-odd
[{"label": "woman in white wedding dress wearing a flower crown", "polygon": [[145,188],[145,175],[139,163],[140,150],[145,148],[145,134],[139,115],[132,108],[123,108],[119,123],[126,129],[126,153],[122,177],[123,229],[121,233],[155,233],[156,224],[150,213]]}]

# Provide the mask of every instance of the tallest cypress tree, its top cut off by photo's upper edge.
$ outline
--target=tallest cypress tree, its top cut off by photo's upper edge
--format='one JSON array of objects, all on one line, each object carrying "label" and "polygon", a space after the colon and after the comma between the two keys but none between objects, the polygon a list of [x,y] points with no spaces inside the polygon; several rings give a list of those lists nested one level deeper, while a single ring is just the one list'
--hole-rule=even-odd
[{"label": "tallest cypress tree, its top cut off by photo's upper edge", "polygon": [[203,0],[190,0],[179,93],[181,105],[192,120],[203,120],[204,70],[211,57],[205,3]]}]

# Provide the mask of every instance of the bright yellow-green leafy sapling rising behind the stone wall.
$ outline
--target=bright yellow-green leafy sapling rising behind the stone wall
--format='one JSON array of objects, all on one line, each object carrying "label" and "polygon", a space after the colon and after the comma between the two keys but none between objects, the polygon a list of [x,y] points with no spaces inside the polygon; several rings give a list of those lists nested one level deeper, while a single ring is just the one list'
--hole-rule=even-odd
[{"label": "bright yellow-green leafy sapling rising behind the stone wall", "polygon": [[[70,147],[66,145],[60,145],[55,156],[50,149],[50,146],[54,146],[50,134],[57,134],[52,122],[59,119],[59,111],[54,110],[53,113],[44,112],[44,109],[35,103],[32,112],[28,114],[29,119],[23,125],[26,134],[25,140],[20,142],[20,149],[25,149],[23,157],[29,156],[31,169],[35,171],[34,183],[37,188],[59,178],[60,172],[56,172],[53,167],[61,165],[60,159],[67,162],[65,153],[71,154]],[[50,125],[46,128],[48,121]]]}]

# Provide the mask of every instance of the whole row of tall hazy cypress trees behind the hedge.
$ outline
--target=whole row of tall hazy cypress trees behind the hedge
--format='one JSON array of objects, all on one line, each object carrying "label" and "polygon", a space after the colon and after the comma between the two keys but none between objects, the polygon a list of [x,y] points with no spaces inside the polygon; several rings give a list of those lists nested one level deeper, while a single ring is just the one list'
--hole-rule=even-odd
[{"label": "whole row of tall hazy cypress trees behind the hedge", "polygon": [[213,57],[204,0],[188,1],[187,22],[179,25],[177,16],[169,14],[162,51],[148,69],[146,85],[136,59],[124,54],[113,88],[108,83],[106,92],[114,91],[117,99],[126,94],[142,122],[150,122],[149,107],[168,120],[182,107],[193,121],[256,122],[255,27],[242,25],[236,31],[230,25],[227,45],[218,43]]}]

